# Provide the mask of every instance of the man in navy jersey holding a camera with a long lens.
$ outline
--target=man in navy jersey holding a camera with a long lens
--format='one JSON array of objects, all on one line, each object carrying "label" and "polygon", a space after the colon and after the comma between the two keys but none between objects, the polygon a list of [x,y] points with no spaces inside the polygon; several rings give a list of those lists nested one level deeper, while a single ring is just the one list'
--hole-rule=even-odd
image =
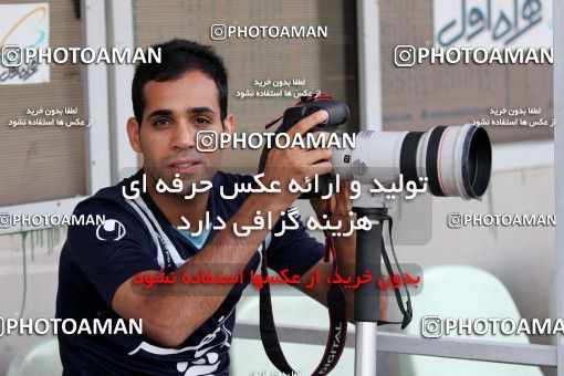
[{"label": "man in navy jersey holding a camera with a long lens", "polygon": [[[143,335],[60,333],[61,358],[65,374],[154,374],[228,375],[229,346],[234,325],[234,305],[249,283],[196,284],[155,283],[145,289],[138,281],[158,278],[159,273],[194,275],[212,270],[221,275],[239,275],[257,270],[262,253],[275,271],[302,276],[302,289],[325,301],[326,284],[304,289],[317,270],[321,280],[332,273],[322,259],[323,246],[312,239],[303,224],[283,237],[272,237],[268,229],[253,230],[241,238],[233,223],[251,224],[257,211],[273,216],[280,229],[281,211],[300,194],[240,194],[226,200],[219,187],[233,191],[250,176],[218,171],[221,152],[199,153],[198,130],[233,133],[234,119],[227,112],[228,83],[222,61],[210,48],[174,40],[155,45],[161,50],[160,64],[140,64],[132,85],[135,117],[127,123],[132,147],[144,157],[143,169],[114,187],[96,192],[81,202],[75,213],[104,215],[103,227],[71,227],[60,261],[56,316],[61,318],[142,318]],[[326,119],[316,112],[302,119],[291,134],[304,134]],[[288,187],[291,179],[304,181],[315,174],[331,171],[328,149],[273,149],[267,160],[262,181],[279,180]],[[145,178],[143,177],[145,174]],[[158,192],[157,184],[173,187],[178,178],[182,190]],[[211,180],[211,190],[192,199],[192,184]],[[132,188],[146,186],[136,198]],[[317,212],[322,202],[313,202]],[[345,192],[335,200],[335,215],[348,213]],[[210,212],[226,229],[203,229],[199,236],[179,231],[188,220],[197,223]],[[109,224],[107,224],[109,223]],[[354,237],[338,239],[337,259],[354,273]],[[262,249],[263,241],[265,249]],[[348,317],[352,317],[349,294]]]}]

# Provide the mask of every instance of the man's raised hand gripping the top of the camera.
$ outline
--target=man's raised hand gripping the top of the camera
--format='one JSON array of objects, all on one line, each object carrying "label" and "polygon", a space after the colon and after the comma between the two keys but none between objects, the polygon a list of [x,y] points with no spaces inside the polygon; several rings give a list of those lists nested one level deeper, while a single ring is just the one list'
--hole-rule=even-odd
[{"label": "man's raised hand gripping the top of the camera", "polygon": [[[296,134],[304,136],[310,129],[324,123],[327,117],[328,113],[325,109],[320,109],[302,118],[288,132],[290,139],[294,139]],[[282,192],[276,195],[275,199],[289,207],[301,196],[301,192],[293,194],[288,189],[290,181],[294,179],[304,186],[306,177],[313,180],[315,175],[331,173],[333,169],[332,155],[331,148],[272,148],[267,157],[264,177],[261,180],[267,186],[273,180],[280,181]]]}]

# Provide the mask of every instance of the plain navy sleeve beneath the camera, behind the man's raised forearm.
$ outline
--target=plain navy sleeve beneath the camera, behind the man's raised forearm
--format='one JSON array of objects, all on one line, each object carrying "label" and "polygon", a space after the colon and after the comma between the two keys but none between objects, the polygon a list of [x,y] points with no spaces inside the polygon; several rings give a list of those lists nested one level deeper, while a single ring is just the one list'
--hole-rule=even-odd
[{"label": "plain navy sleeve beneath the camera, behind the man's raised forearm", "polygon": [[[272,244],[268,248],[268,267],[278,273],[288,268],[289,275],[302,276],[323,258],[325,246],[307,233],[299,216],[296,219],[300,223],[296,230],[286,230],[280,238],[272,238]],[[272,233],[280,230],[281,221]]]}]

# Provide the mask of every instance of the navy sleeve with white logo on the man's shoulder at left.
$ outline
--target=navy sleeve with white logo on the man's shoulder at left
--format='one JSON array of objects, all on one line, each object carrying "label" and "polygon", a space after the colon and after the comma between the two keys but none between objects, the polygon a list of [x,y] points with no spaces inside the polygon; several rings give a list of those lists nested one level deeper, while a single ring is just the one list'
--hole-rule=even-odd
[{"label": "navy sleeve with white logo on the man's shoulder at left", "polygon": [[69,227],[66,241],[71,259],[108,306],[116,290],[129,278],[143,271],[160,270],[152,239],[124,208],[103,200],[87,200],[74,213],[105,216],[104,224]]}]

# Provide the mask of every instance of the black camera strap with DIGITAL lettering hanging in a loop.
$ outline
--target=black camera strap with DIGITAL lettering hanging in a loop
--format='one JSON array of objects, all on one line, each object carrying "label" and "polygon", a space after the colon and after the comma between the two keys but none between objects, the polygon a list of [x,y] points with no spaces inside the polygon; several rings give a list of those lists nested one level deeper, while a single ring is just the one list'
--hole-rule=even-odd
[{"label": "black camera strap with DIGITAL lettering hanging in a loop", "polygon": [[[330,201],[327,201],[330,203]],[[325,213],[331,215],[328,210],[330,205],[325,206]],[[325,254],[324,261],[330,261],[330,257],[333,258],[333,273],[337,271],[337,259],[335,252],[335,243],[333,241],[332,234],[324,230],[325,232]],[[268,278],[268,269],[267,269],[267,251],[264,248],[264,242],[262,243],[263,254],[261,262],[261,274],[264,280]],[[327,294],[326,301],[328,306],[330,314],[330,333],[327,336],[327,342],[325,344],[325,352],[323,357],[312,373],[313,375],[327,375],[337,364],[343,351],[345,348],[345,340],[346,340],[346,326],[347,321],[345,316],[346,310],[346,295],[343,288],[340,284],[331,284]],[[260,290],[260,333],[262,345],[269,357],[270,362],[282,373],[288,375],[297,375],[293,370],[293,368],[288,363],[282,347],[280,346],[280,341],[276,334],[276,327],[274,325],[274,317],[272,312],[272,301],[270,294],[270,285],[265,283]]]}]

